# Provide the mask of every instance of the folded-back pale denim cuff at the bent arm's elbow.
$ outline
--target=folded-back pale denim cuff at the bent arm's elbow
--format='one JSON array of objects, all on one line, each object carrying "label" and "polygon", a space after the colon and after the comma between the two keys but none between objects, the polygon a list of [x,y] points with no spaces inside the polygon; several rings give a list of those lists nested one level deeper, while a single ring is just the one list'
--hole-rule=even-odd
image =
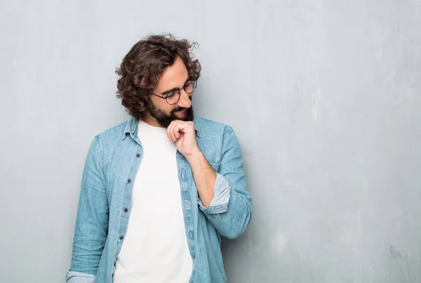
[{"label": "folded-back pale denim cuff at the bent arm's elbow", "polygon": [[215,186],[213,187],[213,199],[206,208],[202,205],[200,198],[198,199],[199,208],[203,213],[223,213],[228,211],[229,196],[231,194],[231,187],[227,179],[220,173],[216,173]]}]

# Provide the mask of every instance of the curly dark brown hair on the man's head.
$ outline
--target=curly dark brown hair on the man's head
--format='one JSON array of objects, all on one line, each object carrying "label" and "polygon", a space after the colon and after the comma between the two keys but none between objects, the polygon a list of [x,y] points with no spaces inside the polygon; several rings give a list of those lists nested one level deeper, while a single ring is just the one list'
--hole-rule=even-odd
[{"label": "curly dark brown hair on the man's head", "polygon": [[117,98],[121,105],[136,119],[142,119],[147,110],[147,103],[152,89],[159,84],[159,77],[180,57],[187,67],[189,78],[197,81],[200,76],[199,60],[193,60],[192,50],[198,45],[187,39],[175,39],[172,34],[149,35],[138,41],[123,58],[116,74]]}]

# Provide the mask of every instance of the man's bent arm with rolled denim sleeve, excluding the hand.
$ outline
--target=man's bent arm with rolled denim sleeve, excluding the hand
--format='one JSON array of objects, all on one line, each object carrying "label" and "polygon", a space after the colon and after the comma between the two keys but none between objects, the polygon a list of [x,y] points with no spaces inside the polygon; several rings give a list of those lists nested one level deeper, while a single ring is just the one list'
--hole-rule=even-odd
[{"label": "man's bent arm with rolled denim sleeve, excluding the hand", "polygon": [[239,237],[251,219],[243,157],[232,128],[225,129],[220,169],[215,173],[200,152],[187,158],[199,193],[199,207],[215,228],[229,239]]}]

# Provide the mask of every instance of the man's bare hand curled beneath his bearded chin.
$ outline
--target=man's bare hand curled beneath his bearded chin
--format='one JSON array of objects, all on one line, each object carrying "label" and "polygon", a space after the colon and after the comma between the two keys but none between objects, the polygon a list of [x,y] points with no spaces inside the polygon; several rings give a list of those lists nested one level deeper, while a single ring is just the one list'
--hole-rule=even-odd
[{"label": "man's bare hand curled beneath his bearded chin", "polygon": [[196,131],[192,121],[174,120],[167,128],[168,140],[175,142],[178,151],[189,159],[201,153],[196,141]]}]

